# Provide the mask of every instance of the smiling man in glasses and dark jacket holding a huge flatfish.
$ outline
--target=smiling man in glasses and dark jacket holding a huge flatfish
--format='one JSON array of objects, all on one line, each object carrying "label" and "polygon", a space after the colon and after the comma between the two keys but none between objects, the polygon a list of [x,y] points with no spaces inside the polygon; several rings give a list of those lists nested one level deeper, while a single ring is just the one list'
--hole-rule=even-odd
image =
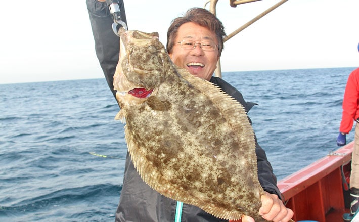
[{"label": "smiling man in glasses and dark jacket holding a huge flatfish", "polygon": [[[109,42],[109,39],[112,40],[114,36],[112,30],[106,31],[108,35],[112,35],[111,37],[103,34],[105,31],[103,26],[106,25],[108,29],[111,29],[112,21],[106,4],[99,4],[97,0],[87,0],[95,44],[99,46],[96,47],[96,52],[110,85],[110,82],[113,82],[114,70],[112,72],[112,69],[106,69],[106,67],[115,67],[118,59],[111,61],[111,58],[106,58],[107,55],[103,52],[106,50],[112,52],[115,47],[118,56],[118,38],[114,42]],[[125,18],[123,2],[119,1],[119,5],[122,16]],[[100,35],[103,37],[99,37]],[[187,69],[192,75],[215,83],[224,92],[239,101],[248,112],[254,104],[247,103],[242,94],[229,83],[212,76],[223,50],[222,39],[225,35],[222,23],[212,13],[201,8],[190,9],[183,17],[172,21],[167,32],[167,51],[177,66]],[[113,44],[111,45],[111,43]],[[256,155],[258,179],[266,191],[265,195],[261,196],[262,207],[259,214],[264,219],[274,222],[289,221],[293,212],[286,208],[280,200],[281,194],[276,186],[276,176],[273,174],[265,151],[257,142]],[[142,181],[127,153],[116,221],[177,221],[175,219],[178,218],[181,218],[181,221],[226,221],[216,218],[196,206],[182,205],[154,191]],[[242,221],[254,220],[244,216]]]}]

